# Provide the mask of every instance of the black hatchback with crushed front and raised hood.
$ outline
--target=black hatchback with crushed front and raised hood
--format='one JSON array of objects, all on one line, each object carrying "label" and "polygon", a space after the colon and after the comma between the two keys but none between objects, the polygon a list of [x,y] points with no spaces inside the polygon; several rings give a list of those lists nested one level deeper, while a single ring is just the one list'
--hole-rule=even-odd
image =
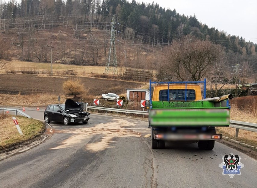
[{"label": "black hatchback with crushed front and raised hood", "polygon": [[88,112],[84,112],[81,104],[67,99],[65,104],[48,105],[45,109],[44,119],[46,123],[63,122],[64,125],[71,123],[87,124],[89,120]]}]

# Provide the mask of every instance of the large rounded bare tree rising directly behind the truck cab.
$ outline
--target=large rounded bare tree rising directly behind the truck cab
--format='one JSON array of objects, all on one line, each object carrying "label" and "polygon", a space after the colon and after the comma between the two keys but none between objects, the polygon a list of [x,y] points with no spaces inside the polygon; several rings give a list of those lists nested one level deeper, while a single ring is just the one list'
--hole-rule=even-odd
[{"label": "large rounded bare tree rising directly behind the truck cab", "polygon": [[198,81],[208,76],[214,63],[222,59],[221,51],[219,45],[187,35],[170,46],[163,68],[170,70],[180,81]]}]

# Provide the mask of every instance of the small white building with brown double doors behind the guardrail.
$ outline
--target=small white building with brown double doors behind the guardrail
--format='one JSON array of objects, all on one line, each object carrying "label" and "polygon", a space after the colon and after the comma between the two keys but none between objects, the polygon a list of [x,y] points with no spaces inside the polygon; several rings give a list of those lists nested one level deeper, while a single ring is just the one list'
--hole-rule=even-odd
[{"label": "small white building with brown double doors behind the guardrail", "polygon": [[141,102],[141,100],[150,100],[149,89],[126,89],[127,100],[132,102]]}]

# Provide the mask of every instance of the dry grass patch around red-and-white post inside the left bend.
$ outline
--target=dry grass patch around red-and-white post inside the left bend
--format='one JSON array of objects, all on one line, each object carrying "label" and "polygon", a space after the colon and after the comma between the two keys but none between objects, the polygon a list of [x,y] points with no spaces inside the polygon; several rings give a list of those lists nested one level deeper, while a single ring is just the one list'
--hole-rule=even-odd
[{"label": "dry grass patch around red-and-white post inside the left bend", "polygon": [[[2,113],[1,115],[2,116]],[[14,125],[12,117],[8,115],[0,120],[0,152],[24,141],[40,136],[45,131],[45,124],[39,120],[16,116],[24,136],[21,136]]]}]

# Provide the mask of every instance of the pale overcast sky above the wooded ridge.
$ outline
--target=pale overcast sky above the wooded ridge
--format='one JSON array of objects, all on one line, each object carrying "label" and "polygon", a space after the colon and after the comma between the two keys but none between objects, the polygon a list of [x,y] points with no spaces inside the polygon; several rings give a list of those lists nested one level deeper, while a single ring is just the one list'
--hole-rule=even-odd
[{"label": "pale overcast sky above the wooded ridge", "polygon": [[[129,0],[131,2],[131,0]],[[153,0],[136,0],[152,3]],[[257,0],[155,0],[163,8],[193,16],[209,28],[257,43]]]}]

